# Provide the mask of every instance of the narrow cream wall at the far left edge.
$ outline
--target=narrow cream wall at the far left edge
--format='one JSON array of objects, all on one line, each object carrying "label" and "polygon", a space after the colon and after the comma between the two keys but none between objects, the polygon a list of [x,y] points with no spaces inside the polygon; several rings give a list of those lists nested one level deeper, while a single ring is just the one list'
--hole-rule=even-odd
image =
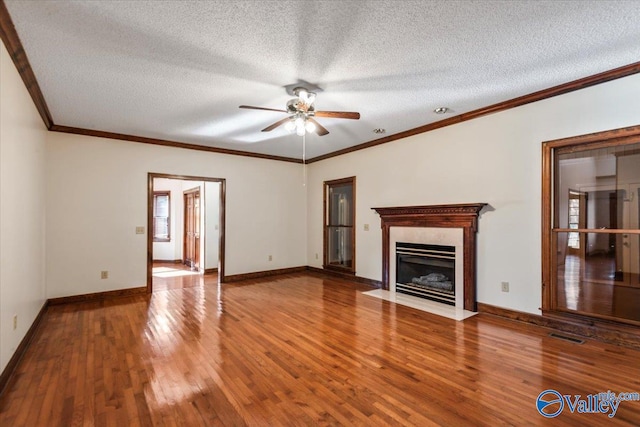
[{"label": "narrow cream wall at the far left edge", "polygon": [[[45,139],[0,43],[0,372],[45,302]],[[18,316],[13,329],[13,316]]]}]

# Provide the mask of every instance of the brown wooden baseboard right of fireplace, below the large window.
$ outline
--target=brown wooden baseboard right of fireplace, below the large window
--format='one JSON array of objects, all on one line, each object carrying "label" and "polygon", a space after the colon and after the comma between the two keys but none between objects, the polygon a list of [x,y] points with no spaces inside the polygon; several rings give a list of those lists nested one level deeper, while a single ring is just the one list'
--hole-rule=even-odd
[{"label": "brown wooden baseboard right of fireplace, below the large window", "polygon": [[540,316],[524,313],[489,304],[478,303],[478,312],[491,314],[518,322],[531,323],[545,328],[555,329],[582,338],[615,344],[624,347],[640,349],[640,332],[636,327],[613,324],[607,321],[593,321],[590,324],[578,319],[565,319],[554,316]]}]

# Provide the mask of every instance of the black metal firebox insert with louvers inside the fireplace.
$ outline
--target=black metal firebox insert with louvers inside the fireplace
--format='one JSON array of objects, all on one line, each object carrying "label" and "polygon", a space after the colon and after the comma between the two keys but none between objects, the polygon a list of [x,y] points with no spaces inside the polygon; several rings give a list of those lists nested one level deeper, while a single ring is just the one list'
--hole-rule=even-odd
[{"label": "black metal firebox insert with louvers inside the fireplace", "polygon": [[456,248],[396,242],[396,292],[455,306]]}]

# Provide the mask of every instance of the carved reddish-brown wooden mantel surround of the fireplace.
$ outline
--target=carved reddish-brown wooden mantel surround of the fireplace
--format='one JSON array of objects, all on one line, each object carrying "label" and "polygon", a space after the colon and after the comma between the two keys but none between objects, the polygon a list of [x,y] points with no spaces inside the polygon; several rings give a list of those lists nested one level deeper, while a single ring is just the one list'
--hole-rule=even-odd
[{"label": "carved reddish-brown wooden mantel surround of the fireplace", "polygon": [[487,203],[398,206],[372,208],[382,227],[382,288],[389,289],[389,229],[391,227],[441,227],[463,229],[464,309],[477,310],[476,232],[480,211]]}]

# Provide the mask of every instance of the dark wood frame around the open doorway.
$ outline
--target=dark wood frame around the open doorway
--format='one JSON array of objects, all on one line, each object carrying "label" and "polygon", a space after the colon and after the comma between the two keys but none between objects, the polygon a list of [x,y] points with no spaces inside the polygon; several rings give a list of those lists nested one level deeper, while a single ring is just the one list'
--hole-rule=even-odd
[{"label": "dark wood frame around the open doorway", "polygon": [[153,180],[154,178],[177,179],[183,181],[217,182],[220,184],[220,216],[218,221],[218,281],[225,282],[225,218],[226,218],[226,180],[224,178],[211,178],[203,176],[171,175],[165,173],[147,174],[147,292],[153,292]]}]

